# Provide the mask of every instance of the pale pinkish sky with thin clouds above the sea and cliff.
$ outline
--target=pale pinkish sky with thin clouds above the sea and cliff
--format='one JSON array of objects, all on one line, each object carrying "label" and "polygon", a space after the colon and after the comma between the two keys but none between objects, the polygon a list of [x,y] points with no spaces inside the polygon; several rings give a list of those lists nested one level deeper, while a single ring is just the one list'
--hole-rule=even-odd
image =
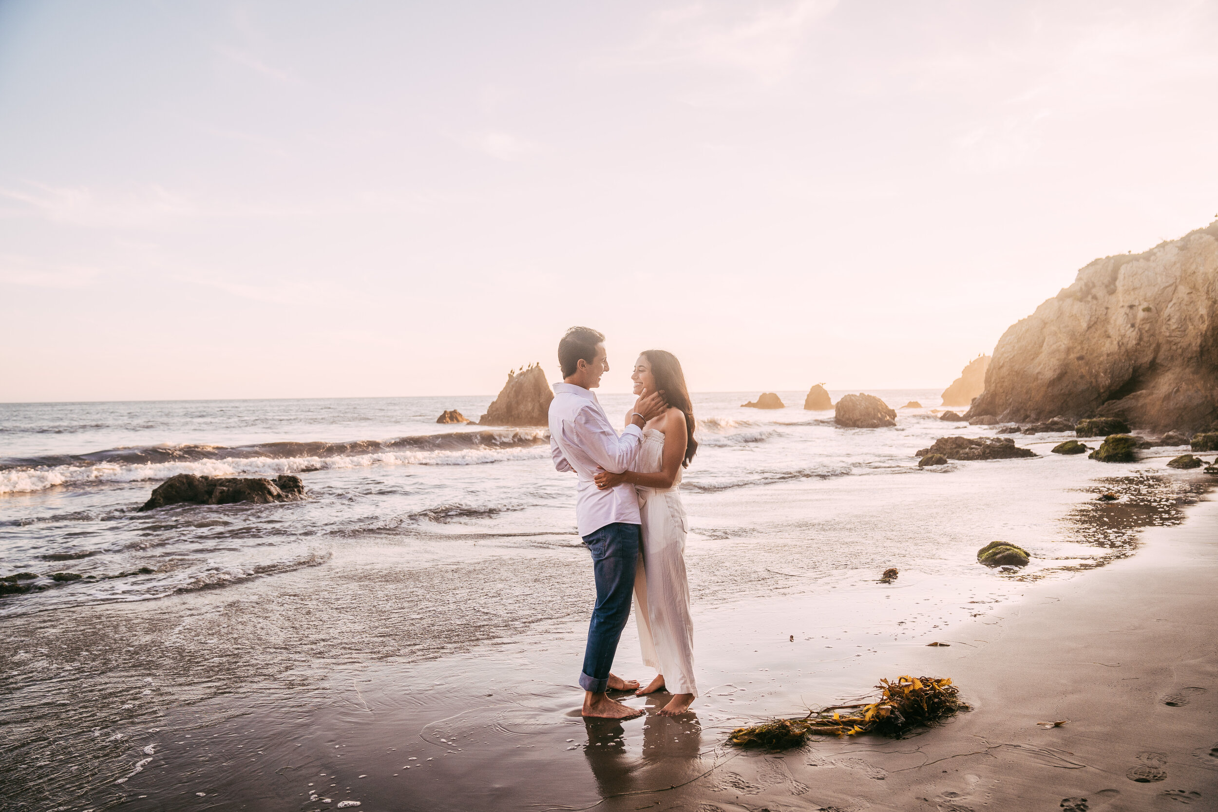
[{"label": "pale pinkish sky with thin clouds above the sea and cliff", "polygon": [[0,0],[0,402],[946,386],[1218,214],[1218,4]]}]

